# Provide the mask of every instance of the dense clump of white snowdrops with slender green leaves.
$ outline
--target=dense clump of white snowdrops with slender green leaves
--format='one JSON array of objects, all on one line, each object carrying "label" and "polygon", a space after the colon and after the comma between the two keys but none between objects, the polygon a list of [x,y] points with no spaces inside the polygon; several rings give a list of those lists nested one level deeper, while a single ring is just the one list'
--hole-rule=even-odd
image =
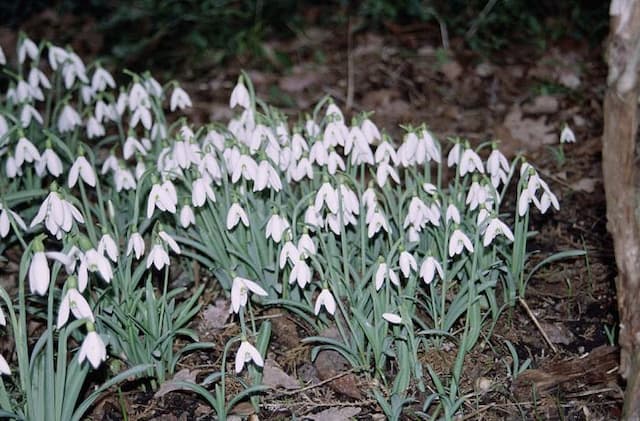
[{"label": "dense clump of white snowdrops with slender green leaves", "polygon": [[[430,416],[462,410],[465,355],[524,296],[531,208],[559,208],[532,165],[497,142],[441,143],[424,124],[392,139],[329,98],[290,124],[244,74],[235,117],[196,127],[167,118],[191,106],[175,82],[125,72],[117,86],[100,63],[25,36],[8,58],[0,249],[22,257],[15,288],[0,289],[15,344],[0,356],[3,414],[80,419],[112,385],[157,387],[184,353],[218,347],[220,371],[179,384],[224,419],[265,390],[271,330],[256,315],[274,306],[317,330],[314,356],[338,351],[375,385],[389,418],[415,401]],[[170,269],[189,275],[194,260],[230,299],[240,334],[227,344],[188,328],[202,288],[185,298]],[[179,337],[191,342],[176,351]],[[440,378],[420,356],[444,344],[458,357]],[[105,380],[87,394],[92,370]],[[246,388],[229,397],[232,375]]]}]

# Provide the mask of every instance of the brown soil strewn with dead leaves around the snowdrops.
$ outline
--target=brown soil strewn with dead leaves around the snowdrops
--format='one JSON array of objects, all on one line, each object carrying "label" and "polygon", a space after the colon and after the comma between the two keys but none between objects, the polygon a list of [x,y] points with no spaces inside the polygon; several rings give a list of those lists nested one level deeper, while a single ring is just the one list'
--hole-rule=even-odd
[{"label": "brown soil strewn with dead leaves around the snowdrops", "polygon": [[[29,25],[25,29],[29,31]],[[89,54],[99,53],[102,47],[96,45]],[[400,132],[399,124],[426,122],[441,140],[459,136],[478,144],[499,139],[509,155],[523,152],[540,168],[561,203],[559,212],[532,221],[539,233],[530,243],[535,252],[531,262],[568,249],[586,250],[587,258],[562,260],[538,271],[529,284],[526,306],[505,314],[492,336],[467,357],[463,388],[470,398],[464,419],[616,419],[621,408],[618,355],[607,347],[617,315],[601,170],[606,79],[602,47],[566,39],[544,47],[513,45],[487,58],[458,39],[451,39],[450,46],[449,51],[442,49],[438,28],[429,25],[350,35],[346,25],[310,26],[294,39],[266,40],[266,51],[273,53],[267,59],[238,57],[223,68],[185,66],[171,77],[182,81],[192,95],[189,115],[196,123],[229,117],[228,97],[244,69],[258,96],[281,107],[291,119],[331,95],[346,115],[373,111],[373,121],[392,135]],[[288,57],[288,65],[278,60],[282,55]],[[577,142],[565,145],[563,159],[557,146],[565,123]],[[222,344],[237,331],[233,325],[207,325],[212,313],[206,311],[215,310],[218,292],[212,285],[196,325],[203,340]],[[350,397],[319,381],[310,347],[295,343],[311,334],[301,321],[287,314],[265,316],[274,321],[270,357],[281,383],[261,399],[259,419],[381,419],[376,418],[381,411],[364,393]],[[532,370],[515,383],[507,375],[512,356],[503,345],[505,339],[514,344],[520,361],[531,359]],[[219,357],[218,351],[194,354],[179,369],[201,380],[219,366]],[[424,358],[445,374],[455,351]],[[306,387],[289,389],[282,384],[288,381]],[[215,419],[192,394],[154,397],[136,384],[108,394],[91,419],[121,420],[123,409],[130,420]],[[418,405],[415,409],[420,410]],[[321,418],[322,411],[333,412]],[[250,415],[251,408],[239,406],[235,412]]]}]

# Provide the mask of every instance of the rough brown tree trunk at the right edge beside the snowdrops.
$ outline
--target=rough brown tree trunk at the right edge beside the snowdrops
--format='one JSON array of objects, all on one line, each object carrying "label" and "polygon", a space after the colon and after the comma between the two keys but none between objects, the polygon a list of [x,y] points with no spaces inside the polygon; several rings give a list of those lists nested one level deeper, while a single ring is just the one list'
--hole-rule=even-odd
[{"label": "rough brown tree trunk at the right edge beside the snowdrops", "polygon": [[636,135],[640,63],[640,1],[613,0],[607,46],[602,166],[607,228],[613,236],[620,314],[623,418],[640,420],[640,185]]}]

